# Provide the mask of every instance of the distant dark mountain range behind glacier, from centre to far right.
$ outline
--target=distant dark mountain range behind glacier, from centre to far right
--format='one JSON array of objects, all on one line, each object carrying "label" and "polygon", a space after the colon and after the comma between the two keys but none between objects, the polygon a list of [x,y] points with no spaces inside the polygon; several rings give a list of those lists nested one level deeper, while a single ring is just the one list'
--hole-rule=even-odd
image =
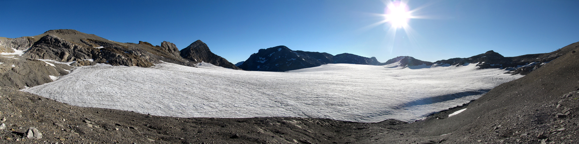
[{"label": "distant dark mountain range behind glacier, from centre to far right", "polygon": [[527,74],[529,71],[540,67],[541,64],[548,63],[567,51],[569,50],[514,57],[504,57],[497,52],[488,51],[484,54],[471,56],[470,58],[452,58],[448,60],[438,60],[434,63],[415,59],[412,56],[398,56],[384,63],[380,63],[375,57],[367,58],[348,53],[331,55],[325,52],[292,51],[288,47],[277,46],[260,49],[247,60],[237,63],[236,66],[250,71],[290,71],[316,67],[328,63],[351,63],[388,67],[412,67],[421,65],[424,67],[462,66],[472,63],[479,66],[479,69],[506,69],[510,70],[508,73],[512,74]]}]

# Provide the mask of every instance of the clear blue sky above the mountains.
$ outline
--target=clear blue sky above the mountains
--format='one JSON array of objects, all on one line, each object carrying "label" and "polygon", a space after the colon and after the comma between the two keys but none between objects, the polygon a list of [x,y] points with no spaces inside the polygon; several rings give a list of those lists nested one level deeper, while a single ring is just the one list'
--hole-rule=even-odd
[{"label": "clear blue sky above the mountains", "polygon": [[412,31],[384,20],[387,1],[6,1],[1,37],[76,29],[105,39],[179,49],[195,40],[232,63],[261,48],[434,62],[494,50],[504,56],[551,52],[579,41],[579,1],[408,1]]}]

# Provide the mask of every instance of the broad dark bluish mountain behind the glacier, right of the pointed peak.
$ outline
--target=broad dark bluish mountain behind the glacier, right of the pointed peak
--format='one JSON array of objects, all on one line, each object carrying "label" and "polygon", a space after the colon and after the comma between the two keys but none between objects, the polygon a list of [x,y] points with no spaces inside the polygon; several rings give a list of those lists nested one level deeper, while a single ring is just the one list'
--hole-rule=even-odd
[{"label": "broad dark bluish mountain behind the glacier, right of the pointed peak", "polygon": [[292,51],[285,46],[261,49],[252,54],[239,68],[250,71],[290,71],[316,67],[328,63],[378,65],[376,58],[354,54],[331,55],[325,52]]}]

